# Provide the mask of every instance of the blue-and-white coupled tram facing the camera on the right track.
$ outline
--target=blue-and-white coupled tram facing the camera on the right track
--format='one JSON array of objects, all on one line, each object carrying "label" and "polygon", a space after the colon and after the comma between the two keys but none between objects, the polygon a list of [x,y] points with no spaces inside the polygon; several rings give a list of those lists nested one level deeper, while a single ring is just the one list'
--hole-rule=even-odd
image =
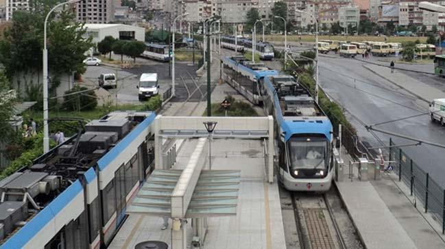
[{"label": "blue-and-white coupled tram facing the camera on the right track", "polygon": [[239,87],[238,81],[245,79],[242,75],[256,79],[258,99],[275,120],[280,182],[291,191],[327,191],[334,174],[333,126],[309,92],[290,75],[252,70],[238,57],[225,57],[222,63],[223,79],[249,100],[253,92]]}]

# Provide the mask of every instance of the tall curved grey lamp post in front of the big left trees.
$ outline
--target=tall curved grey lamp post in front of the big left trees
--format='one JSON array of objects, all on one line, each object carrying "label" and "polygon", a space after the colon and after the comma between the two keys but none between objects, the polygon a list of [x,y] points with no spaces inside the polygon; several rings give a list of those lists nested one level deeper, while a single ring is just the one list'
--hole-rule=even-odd
[{"label": "tall curved grey lamp post in front of the big left trees", "polygon": [[49,15],[65,4],[77,3],[82,0],[70,0],[64,3],[59,3],[49,10],[43,23],[43,153],[49,151],[49,127],[48,127],[48,49],[47,49],[47,22]]}]

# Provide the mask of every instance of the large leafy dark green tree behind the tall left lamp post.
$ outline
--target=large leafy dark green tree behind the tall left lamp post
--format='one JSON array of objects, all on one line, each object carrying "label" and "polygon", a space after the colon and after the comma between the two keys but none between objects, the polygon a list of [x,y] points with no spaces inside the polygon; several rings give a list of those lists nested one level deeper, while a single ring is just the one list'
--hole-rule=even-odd
[{"label": "large leafy dark green tree behind the tall left lamp post", "polygon": [[[3,31],[0,41],[0,63],[5,68],[9,79],[16,80],[18,88],[28,88],[28,83],[38,86],[41,81],[43,51],[43,21],[56,1],[32,1],[30,12],[14,12],[10,27]],[[93,44],[91,38],[85,38],[86,29],[82,23],[73,23],[73,14],[68,11],[49,16],[47,47],[48,66],[51,77],[57,78],[62,73],[83,73],[85,52]],[[23,77],[16,77],[17,75]],[[37,75],[37,82],[32,82]],[[22,85],[23,83],[23,85]],[[60,83],[60,82],[59,82]],[[58,81],[51,81],[50,92],[58,86]],[[28,96],[23,96],[25,100]]]}]

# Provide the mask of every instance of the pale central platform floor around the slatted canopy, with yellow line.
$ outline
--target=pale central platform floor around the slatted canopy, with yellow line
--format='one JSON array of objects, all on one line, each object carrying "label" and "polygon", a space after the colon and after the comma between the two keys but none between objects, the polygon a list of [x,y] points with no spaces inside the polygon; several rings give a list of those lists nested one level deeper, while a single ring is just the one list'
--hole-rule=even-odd
[{"label": "pale central platform floor around the slatted canopy, with yellow line", "polygon": [[[196,144],[197,140],[189,139],[178,146],[173,169],[187,166]],[[207,218],[202,248],[286,248],[278,183],[267,183],[261,140],[213,140],[212,170],[241,170],[239,199],[236,215]],[[170,246],[171,220],[169,228],[161,230],[162,226],[160,217],[130,214],[109,248],[132,249],[147,240],[164,241]],[[186,232],[187,241],[191,241],[192,231]]]}]

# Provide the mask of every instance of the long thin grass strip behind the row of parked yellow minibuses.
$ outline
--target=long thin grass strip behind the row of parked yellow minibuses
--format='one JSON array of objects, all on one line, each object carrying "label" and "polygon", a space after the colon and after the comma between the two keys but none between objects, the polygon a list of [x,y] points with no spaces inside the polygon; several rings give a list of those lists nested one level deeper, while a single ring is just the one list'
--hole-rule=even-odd
[{"label": "long thin grass strip behind the row of parked yellow minibuses", "polygon": [[[287,41],[300,42],[300,36],[287,36]],[[362,42],[362,41],[375,41],[375,42],[385,42],[385,37],[383,36],[318,36],[319,40],[346,40],[349,42]],[[386,42],[415,42],[420,40],[420,42],[425,43],[426,37],[416,37],[416,36],[387,36]],[[285,38],[282,35],[268,35],[265,36],[266,41],[282,41]],[[302,42],[315,42],[315,35],[304,35],[301,36]]]}]

